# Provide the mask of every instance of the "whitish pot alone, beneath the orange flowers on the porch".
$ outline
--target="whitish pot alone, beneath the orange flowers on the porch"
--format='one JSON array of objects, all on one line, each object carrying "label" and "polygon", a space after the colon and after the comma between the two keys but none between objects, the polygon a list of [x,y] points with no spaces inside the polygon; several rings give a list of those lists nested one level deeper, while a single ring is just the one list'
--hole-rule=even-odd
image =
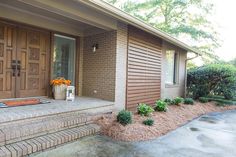
[{"label": "whitish pot alone, beneath the orange flowers on the porch", "polygon": [[65,100],[66,99],[66,88],[67,85],[55,85],[53,86],[54,99]]}]

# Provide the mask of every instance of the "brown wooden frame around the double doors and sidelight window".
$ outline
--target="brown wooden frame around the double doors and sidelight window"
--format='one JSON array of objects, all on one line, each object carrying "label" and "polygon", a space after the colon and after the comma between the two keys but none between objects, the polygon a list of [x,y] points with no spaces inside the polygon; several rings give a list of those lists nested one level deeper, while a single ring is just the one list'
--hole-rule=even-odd
[{"label": "brown wooden frame around the double doors and sidelight window", "polygon": [[59,31],[55,31],[55,30],[51,30],[51,29],[45,29],[45,28],[41,28],[38,26],[34,26],[34,25],[30,25],[30,24],[26,24],[23,22],[18,22],[18,21],[13,21],[13,20],[9,20],[6,18],[2,18],[0,17],[0,21],[2,23],[8,24],[8,25],[12,25],[12,26],[16,26],[16,27],[24,27],[26,29],[31,29],[31,30],[35,30],[35,31],[39,31],[39,32],[47,32],[50,34],[50,48],[49,48],[49,55],[48,55],[48,60],[49,60],[49,74],[48,74],[48,87],[47,87],[47,95],[48,97],[52,97],[52,87],[50,86],[50,80],[52,79],[52,58],[53,58],[53,52],[54,52],[54,34],[60,34],[63,36],[68,36],[71,38],[75,38],[75,92],[76,95],[78,95],[79,93],[79,65],[80,65],[80,41],[81,41],[81,37],[79,36],[74,36],[71,34],[67,34],[64,32],[59,32]]}]

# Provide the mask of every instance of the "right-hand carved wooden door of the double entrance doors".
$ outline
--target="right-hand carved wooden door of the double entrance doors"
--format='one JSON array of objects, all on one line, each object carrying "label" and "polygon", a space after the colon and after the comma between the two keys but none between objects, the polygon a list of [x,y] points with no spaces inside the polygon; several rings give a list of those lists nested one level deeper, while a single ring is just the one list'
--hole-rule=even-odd
[{"label": "right-hand carved wooden door of the double entrance doors", "polygon": [[17,58],[20,76],[17,77],[17,97],[46,96],[49,84],[49,33],[18,29]]}]

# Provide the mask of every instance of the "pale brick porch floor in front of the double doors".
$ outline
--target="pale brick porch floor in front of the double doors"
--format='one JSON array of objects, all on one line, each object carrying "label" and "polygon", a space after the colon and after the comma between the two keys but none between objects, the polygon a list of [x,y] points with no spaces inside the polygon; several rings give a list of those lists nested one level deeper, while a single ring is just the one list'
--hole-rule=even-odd
[{"label": "pale brick porch floor in front of the double doors", "polygon": [[0,108],[0,123],[69,112],[98,113],[111,111],[114,102],[90,97],[76,97],[73,102],[40,98],[47,104]]}]

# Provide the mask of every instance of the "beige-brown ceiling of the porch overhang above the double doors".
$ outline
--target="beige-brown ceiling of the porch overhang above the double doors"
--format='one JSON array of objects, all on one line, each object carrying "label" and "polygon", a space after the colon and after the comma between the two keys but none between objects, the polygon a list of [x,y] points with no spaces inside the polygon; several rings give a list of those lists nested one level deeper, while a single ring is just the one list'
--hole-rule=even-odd
[{"label": "beige-brown ceiling of the porch overhang above the double doors", "polygon": [[75,1],[3,0],[0,2],[0,18],[74,36],[117,28],[114,18]]}]

